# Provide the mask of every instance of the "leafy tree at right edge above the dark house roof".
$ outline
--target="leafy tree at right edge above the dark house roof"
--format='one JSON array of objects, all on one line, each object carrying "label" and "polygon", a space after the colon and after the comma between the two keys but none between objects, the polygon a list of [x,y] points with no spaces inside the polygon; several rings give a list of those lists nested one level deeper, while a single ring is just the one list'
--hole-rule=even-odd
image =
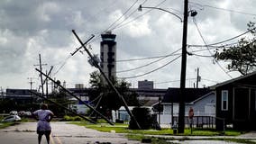
[{"label": "leafy tree at right edge above the dark house roof", "polygon": [[227,68],[231,71],[238,71],[247,75],[256,70],[256,27],[255,23],[248,23],[248,31],[251,37],[238,40],[238,44],[229,49],[216,49],[217,60],[228,61]]}]

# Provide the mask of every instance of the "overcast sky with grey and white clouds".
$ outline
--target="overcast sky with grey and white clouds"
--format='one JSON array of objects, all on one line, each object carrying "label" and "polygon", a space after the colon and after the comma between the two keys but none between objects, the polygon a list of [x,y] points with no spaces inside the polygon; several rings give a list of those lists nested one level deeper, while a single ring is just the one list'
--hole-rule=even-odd
[{"label": "overcast sky with grey and white clouds", "polygon": [[[133,87],[145,79],[154,81],[156,88],[178,87],[180,50],[174,56],[162,56],[181,48],[183,23],[178,17],[159,10],[139,12],[140,4],[158,6],[183,19],[182,0],[1,0],[0,86],[30,88],[28,78],[32,77],[32,88],[38,88],[39,73],[34,69],[38,66],[34,65],[39,64],[39,54],[42,63],[47,64],[42,67],[43,71],[53,66],[52,77],[66,81],[68,87],[89,86],[89,74],[96,68],[89,66],[86,53],[70,56],[79,47],[71,31],[74,29],[83,41],[96,35],[90,41],[90,51],[94,54],[99,54],[99,34],[112,30],[117,42],[117,76],[131,77],[126,80]],[[194,21],[188,17],[187,44],[211,44],[247,31],[246,24],[255,22],[255,7],[255,0],[189,1],[189,10],[196,10],[197,16]],[[242,37],[221,44],[233,43]],[[194,53],[203,56],[215,53],[215,49],[210,48],[209,52],[206,47],[187,48],[190,52],[195,50],[201,50]],[[159,56],[161,59],[155,58]],[[146,59],[127,60],[134,58]],[[226,63],[216,64],[214,58],[187,56],[187,87],[196,82],[197,67],[202,78],[200,87],[240,76],[237,72],[228,72]]]}]

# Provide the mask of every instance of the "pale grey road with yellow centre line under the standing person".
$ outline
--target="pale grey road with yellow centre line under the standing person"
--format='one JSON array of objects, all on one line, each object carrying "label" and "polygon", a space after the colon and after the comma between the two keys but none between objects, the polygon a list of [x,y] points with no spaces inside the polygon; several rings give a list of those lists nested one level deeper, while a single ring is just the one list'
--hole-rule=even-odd
[{"label": "pale grey road with yellow centre line under the standing person", "polygon": [[[66,122],[51,122],[52,133],[50,144],[94,144],[109,142],[112,144],[139,144],[140,141],[128,140],[122,134],[100,132],[85,127],[67,124]],[[0,130],[1,144],[36,144],[37,134],[35,122],[25,122]],[[41,144],[47,143],[45,137]]]}]

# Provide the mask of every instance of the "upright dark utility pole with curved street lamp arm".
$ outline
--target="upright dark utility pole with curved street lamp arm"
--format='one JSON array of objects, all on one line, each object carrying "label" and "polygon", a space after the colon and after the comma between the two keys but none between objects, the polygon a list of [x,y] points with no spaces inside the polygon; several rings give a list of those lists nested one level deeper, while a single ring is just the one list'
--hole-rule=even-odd
[{"label": "upright dark utility pole with curved street lamp arm", "polygon": [[178,104],[178,133],[184,133],[185,128],[185,87],[186,87],[186,65],[187,65],[187,17],[188,13],[191,16],[196,16],[197,12],[192,10],[188,12],[188,0],[184,0],[184,18],[182,19],[177,15],[173,14],[165,9],[159,7],[145,7],[142,4],[139,6],[138,11],[142,11],[142,8],[157,9],[160,11],[167,12],[176,16],[183,23],[183,36],[182,36],[182,53],[181,53],[181,72],[180,72],[180,97]]}]

